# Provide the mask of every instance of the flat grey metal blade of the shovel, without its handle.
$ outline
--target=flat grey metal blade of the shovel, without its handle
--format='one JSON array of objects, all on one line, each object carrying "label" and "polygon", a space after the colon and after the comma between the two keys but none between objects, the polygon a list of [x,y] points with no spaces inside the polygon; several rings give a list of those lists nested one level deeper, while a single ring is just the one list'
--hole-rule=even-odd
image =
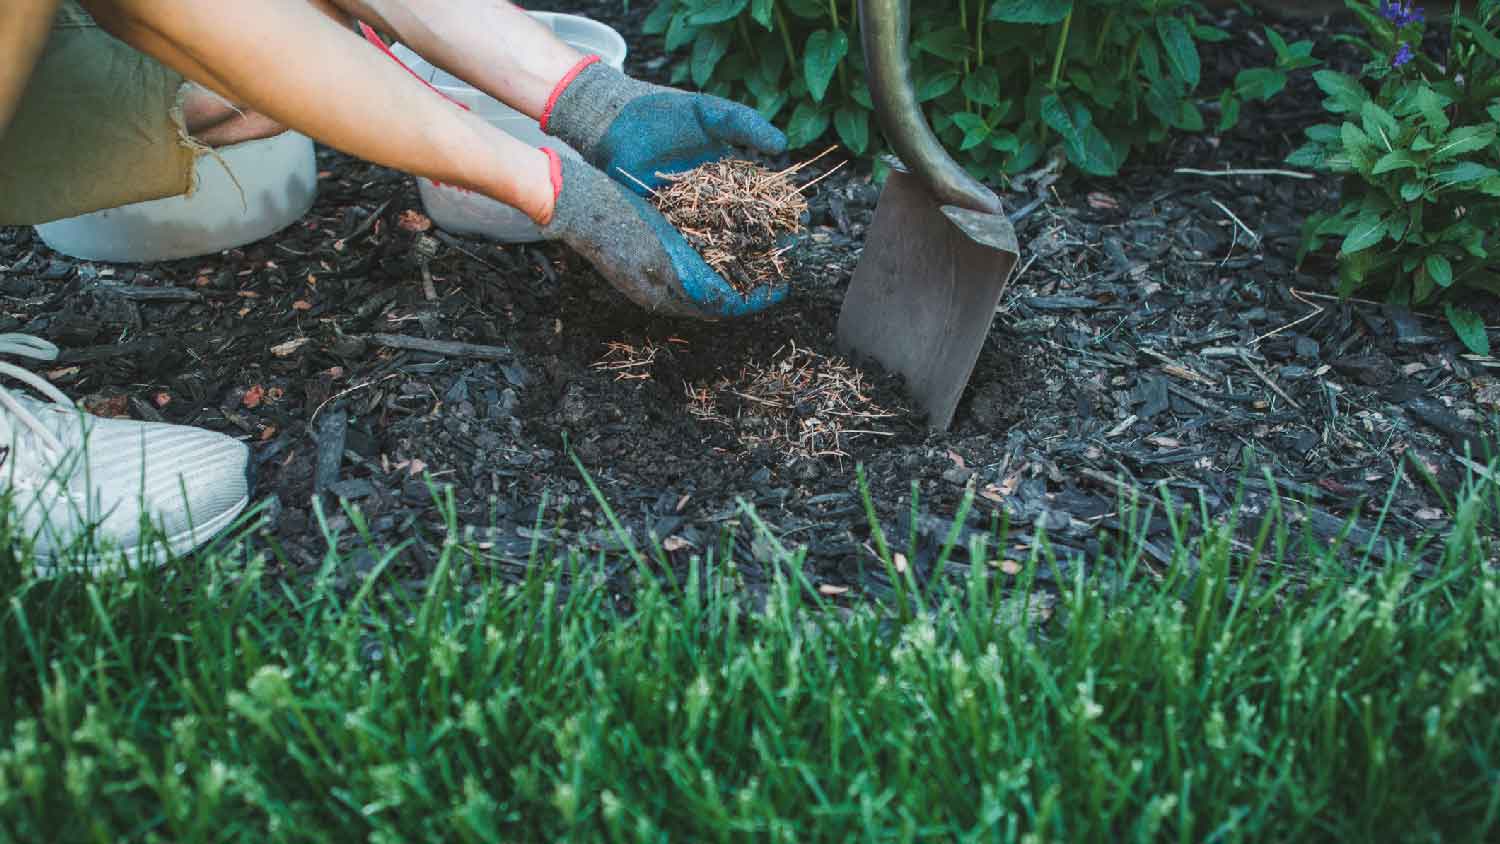
[{"label": "flat grey metal blade of the shovel, without its handle", "polygon": [[838,313],[838,343],[904,376],[927,424],[946,429],[1017,253],[1005,214],[942,205],[892,168]]}]

